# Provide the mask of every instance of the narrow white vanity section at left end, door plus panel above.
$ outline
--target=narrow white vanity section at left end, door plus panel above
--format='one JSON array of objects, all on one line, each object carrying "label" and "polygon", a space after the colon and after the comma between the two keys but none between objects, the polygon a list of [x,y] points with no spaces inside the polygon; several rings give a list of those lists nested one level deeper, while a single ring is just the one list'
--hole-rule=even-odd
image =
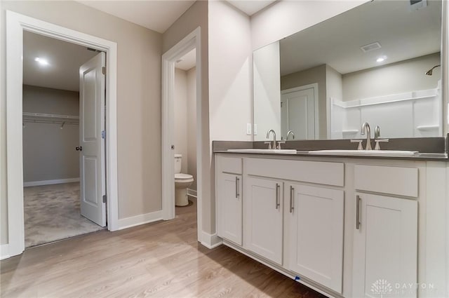
[{"label": "narrow white vanity section at left end, door plus panel above", "polygon": [[242,160],[217,160],[217,235],[242,245]]}]

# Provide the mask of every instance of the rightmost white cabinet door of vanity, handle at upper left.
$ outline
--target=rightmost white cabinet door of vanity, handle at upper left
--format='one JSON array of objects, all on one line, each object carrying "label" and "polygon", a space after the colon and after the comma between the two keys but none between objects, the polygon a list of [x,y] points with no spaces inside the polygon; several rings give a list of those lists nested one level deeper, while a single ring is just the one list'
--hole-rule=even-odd
[{"label": "rightmost white cabinet door of vanity, handle at upper left", "polygon": [[353,296],[416,297],[417,201],[356,195]]}]

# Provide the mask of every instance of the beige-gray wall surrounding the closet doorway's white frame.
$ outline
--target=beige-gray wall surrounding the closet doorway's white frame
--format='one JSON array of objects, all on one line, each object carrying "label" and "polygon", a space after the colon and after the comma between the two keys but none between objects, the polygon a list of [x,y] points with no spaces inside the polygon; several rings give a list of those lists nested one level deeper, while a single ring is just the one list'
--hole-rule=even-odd
[{"label": "beige-gray wall surrounding the closet doorway's white frame", "polygon": [[8,243],[6,9],[117,43],[119,219],[161,210],[162,34],[75,1],[1,1],[0,243]]}]

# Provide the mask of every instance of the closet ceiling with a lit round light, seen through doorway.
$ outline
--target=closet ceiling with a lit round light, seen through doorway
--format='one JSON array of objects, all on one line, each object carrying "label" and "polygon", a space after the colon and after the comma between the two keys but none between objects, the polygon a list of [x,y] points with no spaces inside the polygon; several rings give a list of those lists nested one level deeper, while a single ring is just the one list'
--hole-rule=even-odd
[{"label": "closet ceiling with a lit round light, seen through doorway", "polygon": [[[23,32],[23,83],[25,85],[79,91],[79,67],[97,53],[86,47]],[[41,57],[48,65],[34,61]]]}]

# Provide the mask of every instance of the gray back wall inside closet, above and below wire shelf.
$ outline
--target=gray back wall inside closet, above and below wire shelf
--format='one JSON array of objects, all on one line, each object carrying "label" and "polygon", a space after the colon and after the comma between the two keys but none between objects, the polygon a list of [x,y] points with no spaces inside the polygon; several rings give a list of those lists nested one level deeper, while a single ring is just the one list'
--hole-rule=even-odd
[{"label": "gray back wall inside closet, above and below wire shelf", "polygon": [[[79,115],[79,93],[23,86],[23,111]],[[79,177],[79,126],[58,123],[27,123],[23,128],[23,181]]]}]

